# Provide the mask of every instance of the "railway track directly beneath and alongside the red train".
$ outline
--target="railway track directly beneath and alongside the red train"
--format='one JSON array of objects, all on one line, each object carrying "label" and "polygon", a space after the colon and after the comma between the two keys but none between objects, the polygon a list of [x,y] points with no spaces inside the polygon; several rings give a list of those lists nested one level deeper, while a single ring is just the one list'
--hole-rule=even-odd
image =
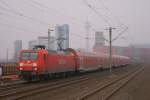
[{"label": "railway track directly beneath and alongside the red train", "polygon": [[[92,73],[92,75],[95,75],[95,73]],[[57,85],[57,84],[61,84],[63,82],[69,82],[69,81],[75,80],[79,77],[87,77],[87,76],[88,75],[84,74],[81,76],[64,78],[64,80],[59,78],[59,79],[52,79],[52,80],[48,80],[48,81],[38,81],[38,82],[31,82],[31,83],[26,82],[26,81],[20,81],[15,84],[3,85],[3,86],[0,86],[0,97],[7,96],[8,94],[11,94],[11,93],[20,92],[22,90],[22,88],[23,89],[25,88],[27,90],[30,88],[41,87],[41,86],[49,85],[49,84]]]}]

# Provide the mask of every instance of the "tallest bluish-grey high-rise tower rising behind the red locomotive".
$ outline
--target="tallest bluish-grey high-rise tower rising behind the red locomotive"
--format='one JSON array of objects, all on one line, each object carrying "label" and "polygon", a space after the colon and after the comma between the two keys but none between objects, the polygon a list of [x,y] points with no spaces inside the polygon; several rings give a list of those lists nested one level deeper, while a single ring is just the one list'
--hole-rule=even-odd
[{"label": "tallest bluish-grey high-rise tower rising behind the red locomotive", "polygon": [[57,25],[55,27],[57,50],[69,48],[69,25]]}]

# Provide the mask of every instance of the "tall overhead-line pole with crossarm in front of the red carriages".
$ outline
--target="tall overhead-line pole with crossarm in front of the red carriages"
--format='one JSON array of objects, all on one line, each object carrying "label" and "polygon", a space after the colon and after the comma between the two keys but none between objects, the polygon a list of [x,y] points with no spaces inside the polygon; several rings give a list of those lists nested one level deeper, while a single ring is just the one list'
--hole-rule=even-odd
[{"label": "tall overhead-line pole with crossarm in front of the red carriages", "polygon": [[109,71],[112,72],[112,30],[116,28],[109,27]]}]

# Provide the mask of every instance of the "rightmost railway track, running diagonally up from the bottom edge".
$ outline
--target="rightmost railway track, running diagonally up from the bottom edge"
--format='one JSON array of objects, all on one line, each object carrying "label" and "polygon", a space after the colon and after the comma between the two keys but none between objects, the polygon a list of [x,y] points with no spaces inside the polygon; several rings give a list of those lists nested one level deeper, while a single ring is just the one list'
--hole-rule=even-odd
[{"label": "rightmost railway track, running diagonally up from the bottom edge", "polygon": [[131,81],[144,67],[136,69],[136,71],[128,72],[127,74],[111,81],[101,84],[100,86],[90,89],[84,95],[79,96],[77,100],[108,100],[119,89]]}]

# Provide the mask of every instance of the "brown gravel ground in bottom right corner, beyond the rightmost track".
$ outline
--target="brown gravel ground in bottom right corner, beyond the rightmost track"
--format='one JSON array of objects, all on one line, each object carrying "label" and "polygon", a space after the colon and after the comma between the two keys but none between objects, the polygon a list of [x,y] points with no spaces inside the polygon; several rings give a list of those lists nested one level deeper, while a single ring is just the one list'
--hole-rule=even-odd
[{"label": "brown gravel ground in bottom right corner, beyond the rightmost track", "polygon": [[121,88],[109,100],[150,100],[150,66]]}]

